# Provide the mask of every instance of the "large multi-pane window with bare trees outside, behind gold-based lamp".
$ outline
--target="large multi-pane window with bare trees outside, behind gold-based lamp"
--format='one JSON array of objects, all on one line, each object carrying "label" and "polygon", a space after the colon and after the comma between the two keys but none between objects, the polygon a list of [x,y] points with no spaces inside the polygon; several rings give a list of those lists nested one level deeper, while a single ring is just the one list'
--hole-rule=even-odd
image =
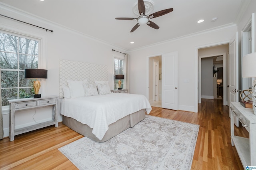
[{"label": "large multi-pane window with bare trees outside, behind gold-based lamp", "polygon": [[0,30],[2,106],[9,99],[33,97],[33,79],[24,79],[24,69],[38,68],[39,40]]}]

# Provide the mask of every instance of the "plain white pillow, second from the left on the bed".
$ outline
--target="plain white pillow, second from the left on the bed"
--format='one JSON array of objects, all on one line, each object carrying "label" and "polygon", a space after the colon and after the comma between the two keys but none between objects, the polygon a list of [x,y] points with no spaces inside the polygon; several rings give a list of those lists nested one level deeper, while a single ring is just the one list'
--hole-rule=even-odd
[{"label": "plain white pillow, second from the left on the bed", "polygon": [[82,97],[84,96],[84,86],[83,83],[87,83],[87,80],[76,81],[76,80],[67,80],[68,87],[70,89],[71,98]]}]

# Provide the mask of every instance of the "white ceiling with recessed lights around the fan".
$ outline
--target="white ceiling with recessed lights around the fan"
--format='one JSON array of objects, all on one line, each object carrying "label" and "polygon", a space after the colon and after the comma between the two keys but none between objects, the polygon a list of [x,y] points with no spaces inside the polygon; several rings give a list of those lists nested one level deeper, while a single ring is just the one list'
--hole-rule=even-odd
[{"label": "white ceiling with recessed lights around the fan", "polygon": [[[130,33],[130,30],[135,26],[136,21],[115,18],[138,18],[132,10],[137,0],[0,0],[0,2],[131,51],[237,23],[250,0],[151,0],[154,10],[150,14],[167,8],[174,10],[150,19],[160,27],[158,30],[141,25],[133,33]],[[211,22],[215,17],[218,19]],[[204,19],[204,22],[198,24],[197,21],[200,19]]]}]

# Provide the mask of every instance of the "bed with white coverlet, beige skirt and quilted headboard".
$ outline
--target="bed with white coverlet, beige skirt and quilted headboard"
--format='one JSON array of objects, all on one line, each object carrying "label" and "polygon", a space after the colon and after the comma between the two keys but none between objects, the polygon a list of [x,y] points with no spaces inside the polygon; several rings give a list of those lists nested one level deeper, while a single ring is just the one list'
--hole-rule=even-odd
[{"label": "bed with white coverlet, beige skirt and quilted headboard", "polygon": [[[81,70],[88,67],[91,69]],[[63,124],[96,142],[105,142],[133,127],[152,109],[144,95],[110,93],[107,70],[105,65],[60,60]],[[81,95],[82,87],[85,96]]]}]

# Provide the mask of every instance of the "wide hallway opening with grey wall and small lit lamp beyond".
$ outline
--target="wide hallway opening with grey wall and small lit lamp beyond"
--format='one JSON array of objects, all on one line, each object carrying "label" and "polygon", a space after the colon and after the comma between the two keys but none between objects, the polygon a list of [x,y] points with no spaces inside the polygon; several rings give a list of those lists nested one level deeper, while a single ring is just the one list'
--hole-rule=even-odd
[{"label": "wide hallway opening with grey wall and small lit lamp beyond", "polygon": [[198,103],[201,99],[223,99],[227,105],[228,51],[228,43],[198,48]]}]

